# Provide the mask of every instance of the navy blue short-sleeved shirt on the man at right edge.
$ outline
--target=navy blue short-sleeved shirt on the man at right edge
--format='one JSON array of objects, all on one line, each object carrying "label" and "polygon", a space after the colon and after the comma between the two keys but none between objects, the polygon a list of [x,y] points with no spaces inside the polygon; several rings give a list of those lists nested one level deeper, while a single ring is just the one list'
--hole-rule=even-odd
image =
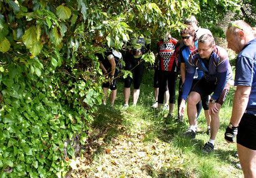
[{"label": "navy blue short-sleeved shirt on the man at right edge", "polygon": [[256,39],[245,44],[235,63],[234,85],[252,87],[247,105],[247,113],[256,114]]}]

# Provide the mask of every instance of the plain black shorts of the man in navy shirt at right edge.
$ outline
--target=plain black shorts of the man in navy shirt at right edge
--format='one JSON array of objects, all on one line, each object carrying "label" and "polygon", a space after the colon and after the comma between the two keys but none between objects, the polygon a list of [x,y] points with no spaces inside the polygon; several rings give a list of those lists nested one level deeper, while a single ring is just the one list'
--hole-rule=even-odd
[{"label": "plain black shorts of the man in navy shirt at right edge", "polygon": [[239,123],[237,143],[256,150],[256,116],[244,114]]}]

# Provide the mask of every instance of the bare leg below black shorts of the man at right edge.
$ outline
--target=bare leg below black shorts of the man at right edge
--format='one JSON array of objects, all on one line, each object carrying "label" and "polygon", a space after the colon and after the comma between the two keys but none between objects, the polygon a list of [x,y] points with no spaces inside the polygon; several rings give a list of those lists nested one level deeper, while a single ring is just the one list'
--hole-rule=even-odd
[{"label": "bare leg below black shorts of the man at right edge", "polygon": [[239,161],[245,178],[256,178],[256,150],[246,148],[237,143]]}]

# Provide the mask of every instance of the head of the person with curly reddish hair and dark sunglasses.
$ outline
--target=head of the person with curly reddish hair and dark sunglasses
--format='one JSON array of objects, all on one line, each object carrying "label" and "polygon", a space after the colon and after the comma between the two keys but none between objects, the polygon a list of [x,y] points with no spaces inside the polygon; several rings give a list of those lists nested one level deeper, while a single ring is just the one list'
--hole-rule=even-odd
[{"label": "head of the person with curly reddish hair and dark sunglasses", "polygon": [[196,34],[197,32],[195,32],[195,29],[192,26],[187,26],[187,28],[180,31],[180,36],[185,45],[194,45],[197,40]]}]

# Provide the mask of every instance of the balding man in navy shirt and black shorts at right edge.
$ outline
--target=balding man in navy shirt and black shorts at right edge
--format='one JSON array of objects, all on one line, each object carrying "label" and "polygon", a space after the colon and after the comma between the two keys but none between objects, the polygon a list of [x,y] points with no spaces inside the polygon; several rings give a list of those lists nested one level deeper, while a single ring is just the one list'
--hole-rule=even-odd
[{"label": "balding man in navy shirt and black shorts at right edge", "polygon": [[235,64],[235,91],[232,116],[225,132],[228,143],[235,142],[244,177],[256,177],[256,39],[244,21],[230,24],[227,47],[238,54]]}]

